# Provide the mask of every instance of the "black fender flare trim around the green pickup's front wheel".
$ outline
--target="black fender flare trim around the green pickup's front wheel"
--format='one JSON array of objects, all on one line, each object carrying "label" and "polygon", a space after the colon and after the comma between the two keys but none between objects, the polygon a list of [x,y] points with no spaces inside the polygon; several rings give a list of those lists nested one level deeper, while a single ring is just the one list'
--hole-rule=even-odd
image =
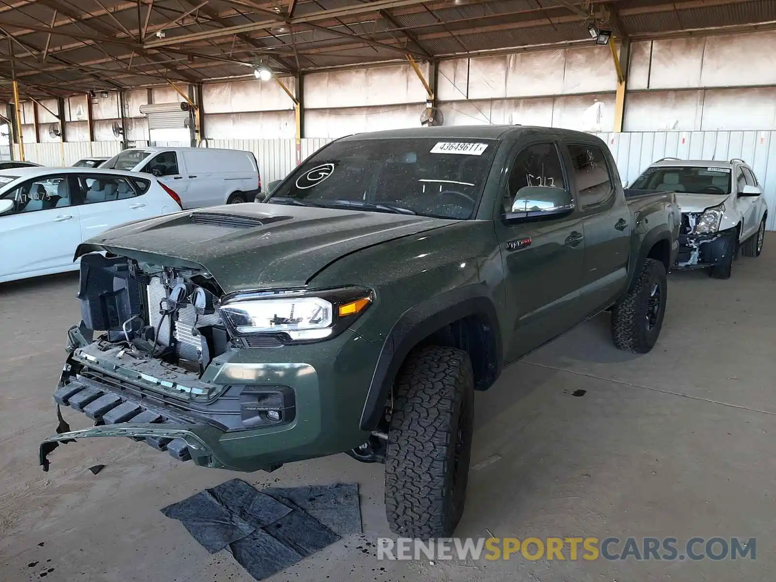
[{"label": "black fender flare trim around the green pickup's front wheel", "polygon": [[493,326],[497,357],[495,374],[498,376],[504,365],[501,329],[496,307],[487,290],[480,285],[467,286],[435,296],[405,311],[383,341],[361,414],[360,426],[363,430],[372,431],[376,428],[393,380],[411,350],[445,325],[471,315],[485,316]]}]

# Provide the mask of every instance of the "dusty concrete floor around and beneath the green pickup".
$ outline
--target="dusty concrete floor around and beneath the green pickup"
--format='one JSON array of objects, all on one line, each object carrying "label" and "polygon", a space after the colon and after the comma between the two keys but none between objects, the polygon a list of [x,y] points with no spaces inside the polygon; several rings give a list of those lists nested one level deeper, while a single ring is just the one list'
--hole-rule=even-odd
[{"label": "dusty concrete floor around and beneath the green pickup", "polygon": [[[714,562],[378,562],[359,546],[390,535],[381,466],[345,455],[241,475],[258,487],[359,483],[364,534],[272,580],[770,580],[774,559],[776,236],[728,281],[670,276],[663,334],[649,355],[612,347],[602,314],[511,366],[476,397],[459,536],[757,538],[757,559]],[[123,438],[37,446],[55,426],[51,392],[72,275],[0,286],[0,571],[40,580],[250,580],[159,509],[235,476],[179,463]],[[586,390],[584,397],[573,397]],[[69,409],[68,409],[69,410]],[[74,427],[85,423],[67,414]],[[487,462],[483,462],[487,461]],[[87,467],[103,463],[92,475]],[[486,529],[487,528],[487,529]]]}]

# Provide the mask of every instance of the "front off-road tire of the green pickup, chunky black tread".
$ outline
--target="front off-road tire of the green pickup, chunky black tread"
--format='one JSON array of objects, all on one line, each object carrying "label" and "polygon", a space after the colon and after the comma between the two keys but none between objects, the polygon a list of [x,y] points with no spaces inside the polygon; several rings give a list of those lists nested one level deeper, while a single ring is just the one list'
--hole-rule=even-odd
[{"label": "front off-road tire of the green pickup, chunky black tread", "polygon": [[394,385],[386,445],[386,517],[395,534],[452,535],[466,499],[473,404],[466,352],[431,345],[407,356]]}]

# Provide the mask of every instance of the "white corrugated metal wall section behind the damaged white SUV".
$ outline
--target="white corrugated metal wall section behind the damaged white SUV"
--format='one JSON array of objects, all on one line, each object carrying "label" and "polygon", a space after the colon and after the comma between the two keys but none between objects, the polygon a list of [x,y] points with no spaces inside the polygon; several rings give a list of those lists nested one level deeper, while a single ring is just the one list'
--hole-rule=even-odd
[{"label": "white corrugated metal wall section behind the damaged white SUV", "polygon": [[776,230],[776,131],[665,131],[598,133],[617,161],[623,182],[632,182],[660,158],[728,161],[740,158],[754,170]]}]

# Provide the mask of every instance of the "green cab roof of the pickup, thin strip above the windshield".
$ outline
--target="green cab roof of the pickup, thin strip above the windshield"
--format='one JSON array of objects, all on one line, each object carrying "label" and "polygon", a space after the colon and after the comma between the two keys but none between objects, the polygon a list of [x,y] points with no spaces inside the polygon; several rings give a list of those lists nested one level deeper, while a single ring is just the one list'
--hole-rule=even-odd
[{"label": "green cab roof of the pickup, thin strip above the windshield", "polygon": [[[408,139],[416,137],[436,137],[441,139],[484,139],[499,140],[508,133],[554,133],[568,137],[594,137],[591,133],[581,131],[563,130],[558,127],[539,127],[521,125],[459,125],[437,127],[411,127],[401,130],[371,131],[366,133],[354,133],[342,140],[382,140],[382,139]],[[597,137],[594,137],[598,139]]]}]

